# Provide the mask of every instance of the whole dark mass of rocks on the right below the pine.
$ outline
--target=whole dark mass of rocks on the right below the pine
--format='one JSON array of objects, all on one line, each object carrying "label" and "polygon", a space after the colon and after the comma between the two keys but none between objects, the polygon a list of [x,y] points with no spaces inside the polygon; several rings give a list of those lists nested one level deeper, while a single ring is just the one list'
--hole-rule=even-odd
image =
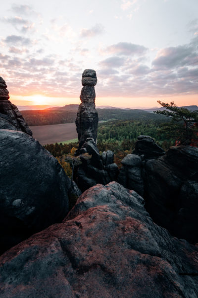
[{"label": "whole dark mass of rocks on the right below the pine", "polygon": [[128,154],[121,161],[117,181],[144,197],[157,224],[197,243],[198,148],[171,147],[164,154],[152,138],[140,136],[133,152],[138,155]]}]

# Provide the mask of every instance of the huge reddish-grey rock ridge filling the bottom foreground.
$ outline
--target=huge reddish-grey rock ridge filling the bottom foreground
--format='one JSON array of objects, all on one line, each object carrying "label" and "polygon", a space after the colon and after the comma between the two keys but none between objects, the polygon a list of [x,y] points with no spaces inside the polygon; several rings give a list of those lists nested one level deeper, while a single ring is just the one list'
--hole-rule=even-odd
[{"label": "huge reddish-grey rock ridge filling the bottom foreground", "polygon": [[197,298],[198,246],[154,224],[116,182],[0,257],[1,298]]}]

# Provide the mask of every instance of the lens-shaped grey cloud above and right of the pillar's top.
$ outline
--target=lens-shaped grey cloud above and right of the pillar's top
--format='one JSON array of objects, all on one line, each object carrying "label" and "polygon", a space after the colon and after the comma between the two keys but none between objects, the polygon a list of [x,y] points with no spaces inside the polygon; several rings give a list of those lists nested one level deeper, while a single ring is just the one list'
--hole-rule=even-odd
[{"label": "lens-shaped grey cloud above and right of the pillar's top", "polygon": [[116,55],[143,55],[147,52],[147,48],[141,45],[132,44],[129,42],[119,42],[107,47],[104,52]]}]

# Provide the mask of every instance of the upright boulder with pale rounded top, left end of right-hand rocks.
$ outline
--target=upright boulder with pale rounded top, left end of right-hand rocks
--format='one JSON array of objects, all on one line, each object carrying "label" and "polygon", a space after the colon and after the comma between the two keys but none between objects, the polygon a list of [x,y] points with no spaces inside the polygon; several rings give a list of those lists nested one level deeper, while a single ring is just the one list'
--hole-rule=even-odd
[{"label": "upright boulder with pale rounded top, left end of right-hand rocks", "polygon": [[121,161],[118,182],[124,187],[135,190],[144,195],[144,182],[142,177],[142,159],[139,155],[127,154]]}]

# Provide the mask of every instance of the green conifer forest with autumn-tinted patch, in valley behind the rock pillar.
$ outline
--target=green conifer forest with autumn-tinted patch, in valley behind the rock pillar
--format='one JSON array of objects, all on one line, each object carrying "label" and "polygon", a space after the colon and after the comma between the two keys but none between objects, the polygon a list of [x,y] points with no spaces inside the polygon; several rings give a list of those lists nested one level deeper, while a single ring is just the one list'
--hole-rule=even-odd
[{"label": "green conifer forest with autumn-tinted patch, in valley behind the rock pillar", "polygon": [[[151,115],[153,117],[160,116]],[[140,135],[151,136],[160,147],[167,150],[170,146],[175,145],[175,139],[171,139],[170,136],[161,133],[163,124],[167,122],[167,117],[162,118],[158,120],[112,120],[99,123],[97,147],[100,153],[106,150],[112,150],[114,152],[114,162],[120,167],[121,160],[124,156],[132,152],[135,141]],[[54,157],[58,158],[58,161],[69,175],[70,167],[65,163],[65,159],[70,162],[71,166],[71,159],[68,156],[74,155],[75,149],[78,148],[78,142],[69,144],[48,144],[44,147],[49,150]],[[68,156],[66,157],[66,155]]]}]

